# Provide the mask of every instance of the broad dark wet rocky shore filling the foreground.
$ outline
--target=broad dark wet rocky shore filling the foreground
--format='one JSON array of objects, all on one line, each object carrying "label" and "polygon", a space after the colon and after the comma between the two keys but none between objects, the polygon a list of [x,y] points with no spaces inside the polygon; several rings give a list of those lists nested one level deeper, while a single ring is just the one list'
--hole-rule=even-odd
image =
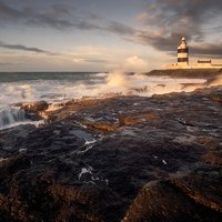
[{"label": "broad dark wet rocky shore filling the foreground", "polygon": [[47,118],[0,131],[1,222],[222,221],[222,87]]}]

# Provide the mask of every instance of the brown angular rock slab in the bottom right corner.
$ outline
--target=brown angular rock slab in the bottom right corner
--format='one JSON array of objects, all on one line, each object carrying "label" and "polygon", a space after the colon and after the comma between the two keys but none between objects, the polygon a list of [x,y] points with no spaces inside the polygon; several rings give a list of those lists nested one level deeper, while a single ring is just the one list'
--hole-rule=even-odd
[{"label": "brown angular rock slab in the bottom right corner", "polygon": [[189,173],[148,183],[122,222],[221,221],[222,186],[218,172]]}]

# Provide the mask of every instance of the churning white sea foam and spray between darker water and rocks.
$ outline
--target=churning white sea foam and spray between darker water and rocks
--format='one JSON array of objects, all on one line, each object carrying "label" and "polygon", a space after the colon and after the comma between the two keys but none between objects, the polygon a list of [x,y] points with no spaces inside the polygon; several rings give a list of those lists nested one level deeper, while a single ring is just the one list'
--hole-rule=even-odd
[{"label": "churning white sea foam and spray between darker water and rocks", "polygon": [[[121,71],[111,73],[97,73],[94,78],[101,81],[88,82],[84,77],[82,81],[63,80],[29,80],[14,82],[0,82],[0,107],[9,103],[21,101],[32,102],[47,100],[57,102],[69,99],[80,99],[82,97],[97,97],[107,93],[127,94],[132,89],[147,87],[147,95],[154,93],[167,93],[172,91],[191,91],[193,89],[184,89],[182,84],[203,83],[202,79],[172,79],[169,77],[147,77],[143,74],[128,75]],[[9,77],[10,78],[10,77]],[[92,79],[93,77],[89,77]],[[134,94],[141,92],[134,92]],[[144,94],[144,95],[145,95]]]}]

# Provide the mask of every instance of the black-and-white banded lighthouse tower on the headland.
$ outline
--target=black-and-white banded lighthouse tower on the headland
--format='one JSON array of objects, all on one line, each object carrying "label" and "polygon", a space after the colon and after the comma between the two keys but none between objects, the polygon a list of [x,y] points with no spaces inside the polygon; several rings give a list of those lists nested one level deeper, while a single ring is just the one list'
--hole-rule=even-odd
[{"label": "black-and-white banded lighthouse tower on the headland", "polygon": [[184,37],[178,47],[178,65],[181,68],[189,65],[189,48]]}]

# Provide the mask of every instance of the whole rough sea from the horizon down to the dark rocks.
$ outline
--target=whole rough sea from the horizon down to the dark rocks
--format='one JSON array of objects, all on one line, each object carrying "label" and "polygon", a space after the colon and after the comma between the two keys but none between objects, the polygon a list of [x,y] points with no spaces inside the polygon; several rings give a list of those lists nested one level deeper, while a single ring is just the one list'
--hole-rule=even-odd
[{"label": "whole rough sea from the horizon down to the dark rocks", "polygon": [[149,77],[123,71],[0,72],[0,130],[18,124],[39,124],[26,119],[24,111],[17,105],[20,102],[44,100],[50,108],[56,108],[73,99],[188,92],[204,82],[204,79]]}]

